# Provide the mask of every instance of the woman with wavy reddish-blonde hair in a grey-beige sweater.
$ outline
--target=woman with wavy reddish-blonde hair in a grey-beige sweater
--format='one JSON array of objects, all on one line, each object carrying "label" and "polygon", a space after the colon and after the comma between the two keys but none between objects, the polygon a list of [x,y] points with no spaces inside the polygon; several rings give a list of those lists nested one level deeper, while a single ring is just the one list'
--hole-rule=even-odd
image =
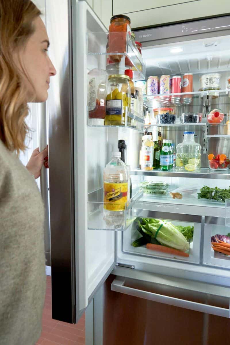
[{"label": "woman with wavy reddish-blonde hair in a grey-beige sweater", "polygon": [[48,149],[27,168],[15,153],[25,149],[27,103],[46,101],[56,74],[40,14],[30,0],[0,1],[0,345],[34,345],[41,334],[44,207],[34,178]]}]

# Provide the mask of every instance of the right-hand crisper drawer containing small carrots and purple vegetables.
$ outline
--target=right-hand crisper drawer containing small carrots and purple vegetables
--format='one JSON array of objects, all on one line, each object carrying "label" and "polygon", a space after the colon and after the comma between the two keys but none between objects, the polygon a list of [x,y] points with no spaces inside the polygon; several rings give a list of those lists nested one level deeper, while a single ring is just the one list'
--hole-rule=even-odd
[{"label": "right-hand crisper drawer containing small carrots and purple vegetables", "polygon": [[225,218],[205,217],[203,264],[230,267],[230,256],[214,251],[211,246],[212,236],[227,235],[228,233],[230,233],[230,227],[225,226]]}]

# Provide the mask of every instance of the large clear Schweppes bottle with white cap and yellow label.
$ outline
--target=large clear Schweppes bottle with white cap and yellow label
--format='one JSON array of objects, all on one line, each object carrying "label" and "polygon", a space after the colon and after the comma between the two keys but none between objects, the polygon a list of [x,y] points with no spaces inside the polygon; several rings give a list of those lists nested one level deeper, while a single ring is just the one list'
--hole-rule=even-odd
[{"label": "large clear Schweppes bottle with white cap and yellow label", "polygon": [[104,220],[118,230],[124,225],[125,206],[130,195],[129,172],[120,158],[121,152],[113,152],[112,160],[104,168]]}]

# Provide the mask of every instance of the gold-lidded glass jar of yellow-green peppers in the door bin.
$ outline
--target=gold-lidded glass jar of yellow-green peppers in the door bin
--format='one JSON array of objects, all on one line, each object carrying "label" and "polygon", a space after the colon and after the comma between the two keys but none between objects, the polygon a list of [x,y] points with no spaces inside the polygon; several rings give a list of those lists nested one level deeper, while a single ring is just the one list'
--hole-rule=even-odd
[{"label": "gold-lidded glass jar of yellow-green peppers in the door bin", "polygon": [[131,119],[128,117],[131,105],[129,76],[122,74],[110,75],[108,77],[106,95],[106,118],[104,124],[112,126],[128,125],[131,122]]}]

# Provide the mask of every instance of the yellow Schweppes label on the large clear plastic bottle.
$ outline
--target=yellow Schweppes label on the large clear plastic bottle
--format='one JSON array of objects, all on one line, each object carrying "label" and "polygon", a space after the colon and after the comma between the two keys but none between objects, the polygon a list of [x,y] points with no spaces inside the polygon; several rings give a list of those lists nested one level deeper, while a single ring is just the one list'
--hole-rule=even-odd
[{"label": "yellow Schweppes label on the large clear plastic bottle", "polygon": [[127,203],[128,182],[104,182],[104,209],[110,211],[123,211]]}]

